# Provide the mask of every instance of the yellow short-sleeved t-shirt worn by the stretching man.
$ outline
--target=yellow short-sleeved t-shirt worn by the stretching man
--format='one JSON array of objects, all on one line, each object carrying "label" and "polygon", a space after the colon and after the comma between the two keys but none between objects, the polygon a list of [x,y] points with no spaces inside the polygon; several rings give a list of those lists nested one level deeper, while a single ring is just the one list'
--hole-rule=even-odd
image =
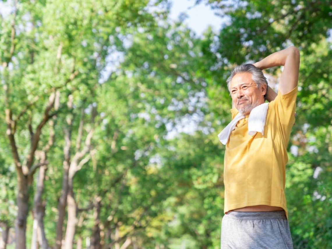
[{"label": "yellow short-sleeved t-shirt worn by the stretching man", "polygon": [[[224,158],[225,206],[229,210],[268,205],[282,207],[288,218],[285,197],[287,144],[295,122],[297,87],[269,103],[264,135],[248,134],[247,115],[235,126]],[[232,119],[238,111],[231,109]]]}]

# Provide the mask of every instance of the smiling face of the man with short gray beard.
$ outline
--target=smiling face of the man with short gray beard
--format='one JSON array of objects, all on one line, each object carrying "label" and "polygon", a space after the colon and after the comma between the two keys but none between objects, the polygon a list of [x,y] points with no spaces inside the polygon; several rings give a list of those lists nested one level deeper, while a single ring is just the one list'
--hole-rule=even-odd
[{"label": "smiling face of the man with short gray beard", "polygon": [[238,73],[230,82],[230,94],[235,108],[243,115],[265,102],[266,86],[259,89],[251,78],[251,73]]}]

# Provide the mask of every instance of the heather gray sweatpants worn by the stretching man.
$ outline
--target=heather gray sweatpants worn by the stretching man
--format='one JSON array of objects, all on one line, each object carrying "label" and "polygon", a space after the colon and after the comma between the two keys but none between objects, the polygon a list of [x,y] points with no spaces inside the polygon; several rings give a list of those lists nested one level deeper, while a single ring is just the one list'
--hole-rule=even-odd
[{"label": "heather gray sweatpants worn by the stretching man", "polygon": [[236,212],[221,222],[221,249],[293,249],[284,211]]}]

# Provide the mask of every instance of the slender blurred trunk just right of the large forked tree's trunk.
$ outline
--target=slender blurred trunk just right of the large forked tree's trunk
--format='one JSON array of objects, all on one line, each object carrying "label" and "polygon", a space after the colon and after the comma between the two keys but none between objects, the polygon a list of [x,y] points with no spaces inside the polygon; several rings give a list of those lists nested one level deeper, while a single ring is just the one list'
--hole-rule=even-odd
[{"label": "slender blurred trunk just right of the large forked tree's trunk", "polygon": [[[32,240],[31,249],[37,249],[37,240],[38,244],[42,249],[48,248],[48,243],[45,236],[44,230],[44,215],[45,215],[45,203],[42,201],[42,193],[44,191],[44,180],[45,180],[45,172],[47,170],[47,166],[41,166],[39,169],[39,174],[37,177],[37,191],[34,198],[34,208],[33,208],[33,216],[34,216],[34,226],[37,224],[36,230],[34,229],[33,235],[35,238]],[[34,227],[35,228],[35,227]],[[37,238],[37,239],[36,239]]]}]

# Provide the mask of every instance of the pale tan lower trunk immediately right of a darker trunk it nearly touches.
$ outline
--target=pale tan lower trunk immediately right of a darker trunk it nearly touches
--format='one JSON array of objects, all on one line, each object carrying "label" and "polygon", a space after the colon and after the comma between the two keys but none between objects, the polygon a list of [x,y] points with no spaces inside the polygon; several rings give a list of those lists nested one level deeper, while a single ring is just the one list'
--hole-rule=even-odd
[{"label": "pale tan lower trunk immediately right of a darker trunk it nearly touches", "polygon": [[77,223],[76,218],[76,202],[74,197],[73,191],[73,179],[71,174],[69,174],[69,182],[68,182],[68,195],[67,195],[67,228],[66,228],[66,235],[64,241],[64,248],[65,249],[72,249],[74,243],[74,235],[75,235],[75,228]]}]

